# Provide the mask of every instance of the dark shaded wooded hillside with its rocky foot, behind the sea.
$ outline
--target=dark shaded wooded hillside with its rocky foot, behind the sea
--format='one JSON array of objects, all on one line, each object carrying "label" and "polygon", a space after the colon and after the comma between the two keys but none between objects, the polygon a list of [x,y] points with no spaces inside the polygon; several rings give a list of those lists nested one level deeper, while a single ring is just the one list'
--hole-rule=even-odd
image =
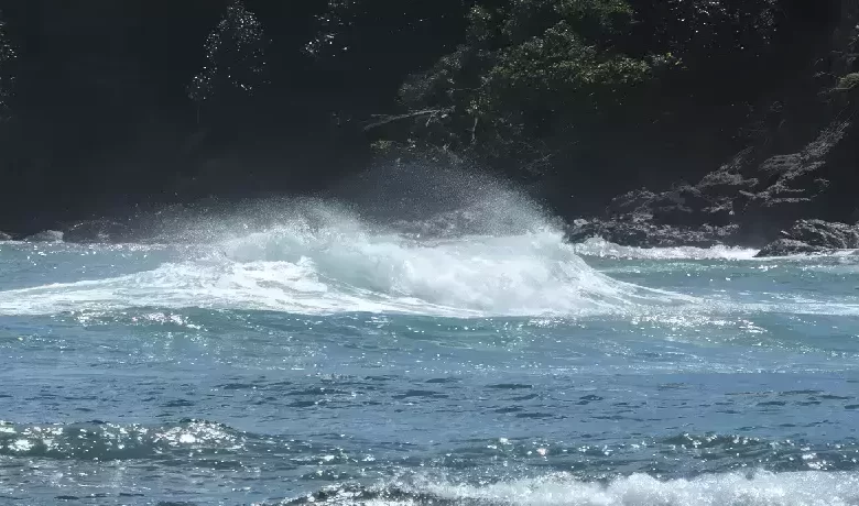
[{"label": "dark shaded wooded hillside with its rocky foot, behind the sea", "polygon": [[0,11],[9,237],[395,165],[511,180],[574,241],[859,246],[857,0],[54,3]]}]

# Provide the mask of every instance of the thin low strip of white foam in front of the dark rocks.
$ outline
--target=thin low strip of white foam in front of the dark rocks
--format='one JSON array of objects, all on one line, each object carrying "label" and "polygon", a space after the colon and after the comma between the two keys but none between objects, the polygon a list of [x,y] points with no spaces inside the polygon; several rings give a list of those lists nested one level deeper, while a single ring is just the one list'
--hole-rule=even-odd
[{"label": "thin low strip of white foam in front of the dark rocks", "polygon": [[621,246],[604,239],[591,238],[574,245],[583,256],[624,260],[752,260],[759,250],[731,246],[713,248],[633,248]]}]

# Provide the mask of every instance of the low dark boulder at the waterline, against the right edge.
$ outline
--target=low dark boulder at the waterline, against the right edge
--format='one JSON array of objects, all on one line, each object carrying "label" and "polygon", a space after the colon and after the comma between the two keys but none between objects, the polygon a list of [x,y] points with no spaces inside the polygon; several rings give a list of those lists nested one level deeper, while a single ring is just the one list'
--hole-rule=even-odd
[{"label": "low dark boulder at the waterline, against the right edge", "polygon": [[826,253],[859,249],[859,226],[800,220],[782,232],[783,238],[761,250],[759,257]]}]

